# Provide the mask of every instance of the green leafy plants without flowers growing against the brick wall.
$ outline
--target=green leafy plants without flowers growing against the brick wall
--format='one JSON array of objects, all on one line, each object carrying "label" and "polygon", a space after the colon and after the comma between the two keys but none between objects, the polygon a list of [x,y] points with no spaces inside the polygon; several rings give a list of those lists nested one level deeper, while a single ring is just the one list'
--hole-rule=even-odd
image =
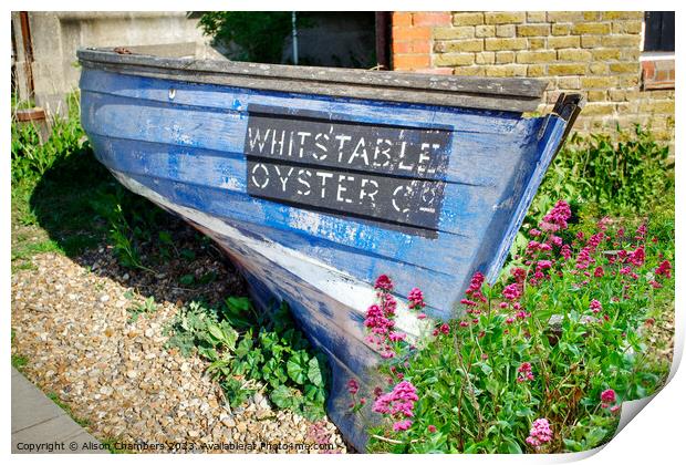
[{"label": "green leafy plants without flowers growing against the brick wall", "polygon": [[528,240],[524,231],[537,225],[557,199],[569,199],[575,223],[579,215],[635,216],[663,207],[674,210],[674,164],[669,147],[636,125],[616,136],[574,134],[548,169],[529,208],[510,256]]}]

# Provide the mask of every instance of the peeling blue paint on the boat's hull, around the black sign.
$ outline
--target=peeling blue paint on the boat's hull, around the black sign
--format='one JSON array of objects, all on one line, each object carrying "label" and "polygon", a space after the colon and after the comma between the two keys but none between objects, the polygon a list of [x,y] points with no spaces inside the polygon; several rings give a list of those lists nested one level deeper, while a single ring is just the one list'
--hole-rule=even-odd
[{"label": "peeling blue paint on the boat's hull, around the black sign", "polygon": [[[83,70],[81,90],[83,126],[97,158],[220,244],[259,304],[274,298],[290,303],[330,356],[329,412],[360,448],[366,442],[363,424],[374,417],[350,415],[345,383],[357,378],[370,395],[376,382],[372,369],[378,356],[364,342],[363,328],[364,306],[372,302],[351,308],[341,296],[323,293],[325,282],[303,280],[247,241],[269,241],[365,286],[387,273],[398,298],[417,286],[427,296],[430,317],[453,318],[475,271],[496,279],[565,128],[557,116],[543,126],[545,118],[509,112],[187,84],[92,69]],[[243,147],[247,108],[253,104],[360,124],[448,128],[448,162],[439,174],[445,198],[435,236],[248,195]],[[221,221],[243,239],[197,223],[189,211]]]}]

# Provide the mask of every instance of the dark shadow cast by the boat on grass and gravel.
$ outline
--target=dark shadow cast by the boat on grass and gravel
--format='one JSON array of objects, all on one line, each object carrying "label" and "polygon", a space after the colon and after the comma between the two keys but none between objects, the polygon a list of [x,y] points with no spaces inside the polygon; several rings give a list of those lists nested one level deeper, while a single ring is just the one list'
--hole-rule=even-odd
[{"label": "dark shadow cast by the boat on grass and gravel", "polygon": [[[52,165],[33,188],[29,206],[59,251],[143,297],[215,304],[246,294],[236,268],[207,237],[123,188],[87,143]],[[113,217],[117,206],[121,216]],[[125,221],[131,246],[149,270],[122,266],[126,260],[110,232],[113,218]]]}]

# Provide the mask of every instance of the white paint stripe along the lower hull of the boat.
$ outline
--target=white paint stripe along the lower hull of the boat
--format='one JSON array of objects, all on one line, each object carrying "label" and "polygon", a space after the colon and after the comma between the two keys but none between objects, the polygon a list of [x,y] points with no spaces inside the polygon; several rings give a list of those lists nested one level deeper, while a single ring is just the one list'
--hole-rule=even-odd
[{"label": "white paint stripe along the lower hull of the boat", "polygon": [[[176,205],[137,180],[122,173],[113,173],[129,190],[145,196],[152,202],[176,211],[180,216],[207,229],[243,244],[351,309],[365,313],[367,307],[376,300],[376,291],[373,286],[361,281],[345,271],[333,268],[311,256],[290,249],[267,238],[258,240],[248,237],[232,226],[227,225],[221,219],[194,208]],[[408,335],[417,338],[426,333],[433,326],[433,322],[429,319],[417,320],[415,313],[407,308],[407,304],[404,301],[398,301],[395,326]]]}]

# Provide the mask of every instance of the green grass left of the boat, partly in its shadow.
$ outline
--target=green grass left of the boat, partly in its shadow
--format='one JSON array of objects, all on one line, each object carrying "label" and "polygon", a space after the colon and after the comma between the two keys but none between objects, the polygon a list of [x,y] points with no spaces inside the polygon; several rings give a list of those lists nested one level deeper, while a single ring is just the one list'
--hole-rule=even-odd
[{"label": "green grass left of the boat, partly in its shadow", "polygon": [[71,104],[42,145],[32,126],[12,123],[12,272],[30,269],[37,254],[76,257],[105,239],[124,266],[145,268],[139,245],[157,234],[166,214],[124,189],[97,162],[77,100]]}]

